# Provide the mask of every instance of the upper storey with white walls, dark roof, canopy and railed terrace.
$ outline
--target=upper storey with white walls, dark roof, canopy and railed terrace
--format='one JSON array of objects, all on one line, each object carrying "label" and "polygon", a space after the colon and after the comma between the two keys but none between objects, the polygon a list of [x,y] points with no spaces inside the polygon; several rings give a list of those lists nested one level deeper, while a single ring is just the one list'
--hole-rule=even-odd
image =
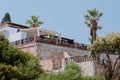
[{"label": "upper storey with white walls, dark roof, canopy and railed terrace", "polygon": [[[73,39],[61,37],[60,32],[51,31],[43,28],[29,28],[24,25],[19,25],[15,23],[5,23],[0,25],[1,28],[4,26],[11,27],[11,29],[7,29],[12,32],[9,36],[9,41],[11,44],[15,46],[22,46],[26,44],[30,44],[32,42],[46,43],[56,46],[76,48],[87,50],[86,44],[81,44],[74,42]],[[6,32],[5,30],[3,30]],[[14,32],[14,33],[13,33]]]}]

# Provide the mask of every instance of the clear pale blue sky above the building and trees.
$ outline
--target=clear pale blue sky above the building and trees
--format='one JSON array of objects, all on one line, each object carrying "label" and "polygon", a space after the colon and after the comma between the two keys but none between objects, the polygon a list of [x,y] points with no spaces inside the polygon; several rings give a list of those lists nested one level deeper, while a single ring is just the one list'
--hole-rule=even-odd
[{"label": "clear pale blue sky above the building and trees", "polygon": [[120,0],[0,0],[0,21],[6,12],[12,22],[26,25],[32,15],[43,21],[42,28],[58,31],[75,42],[90,44],[90,29],[84,24],[88,9],[103,13],[98,36],[120,32]]}]

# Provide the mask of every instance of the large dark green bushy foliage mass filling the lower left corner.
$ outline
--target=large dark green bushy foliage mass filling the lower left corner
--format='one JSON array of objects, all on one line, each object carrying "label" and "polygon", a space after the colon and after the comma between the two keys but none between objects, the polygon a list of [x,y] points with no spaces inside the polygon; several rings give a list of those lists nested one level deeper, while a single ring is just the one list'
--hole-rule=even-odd
[{"label": "large dark green bushy foliage mass filling the lower left corner", "polygon": [[43,70],[36,57],[14,48],[0,36],[0,80],[31,80],[41,73]]}]

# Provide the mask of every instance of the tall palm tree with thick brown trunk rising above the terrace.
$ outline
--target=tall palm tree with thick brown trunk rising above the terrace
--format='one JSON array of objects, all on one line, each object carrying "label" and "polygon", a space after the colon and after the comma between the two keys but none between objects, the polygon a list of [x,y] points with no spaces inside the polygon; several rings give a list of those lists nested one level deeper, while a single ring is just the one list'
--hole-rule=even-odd
[{"label": "tall palm tree with thick brown trunk rising above the terrace", "polygon": [[96,40],[96,31],[101,29],[101,26],[98,26],[98,21],[103,13],[100,13],[96,9],[88,10],[88,14],[85,15],[85,24],[90,28],[91,44]]}]

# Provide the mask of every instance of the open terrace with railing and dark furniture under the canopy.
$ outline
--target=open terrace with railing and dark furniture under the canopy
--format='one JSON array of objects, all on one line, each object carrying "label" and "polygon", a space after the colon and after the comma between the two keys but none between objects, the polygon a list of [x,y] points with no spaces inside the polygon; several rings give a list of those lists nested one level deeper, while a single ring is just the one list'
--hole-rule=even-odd
[{"label": "open terrace with railing and dark furniture under the canopy", "polygon": [[28,37],[25,39],[17,40],[15,42],[11,42],[11,44],[15,45],[16,47],[19,47],[19,46],[30,44],[33,42],[39,42],[39,43],[51,44],[51,45],[56,45],[56,46],[61,46],[61,47],[69,47],[69,48],[87,50],[86,44],[77,43],[77,42],[74,42],[73,40],[67,39],[67,38],[61,38],[61,40],[60,40],[58,36],[49,38],[46,35]]}]

